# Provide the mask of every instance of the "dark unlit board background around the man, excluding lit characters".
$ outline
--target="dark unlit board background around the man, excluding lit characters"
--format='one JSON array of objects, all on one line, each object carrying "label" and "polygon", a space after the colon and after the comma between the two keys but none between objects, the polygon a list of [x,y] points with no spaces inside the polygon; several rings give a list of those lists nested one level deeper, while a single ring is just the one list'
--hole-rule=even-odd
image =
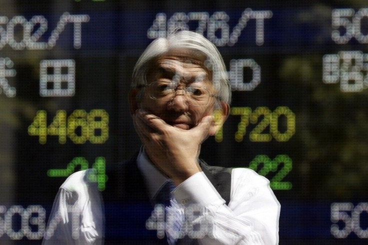
[{"label": "dark unlit board background around the man, excluding lit characters", "polygon": [[[361,203],[368,202],[368,82],[359,92],[343,92],[339,83],[327,84],[322,79],[323,55],[340,51],[368,53],[367,45],[359,43],[354,36],[345,44],[337,44],[331,38],[336,29],[331,25],[332,10],[351,8],[357,12],[368,8],[364,1],[1,0],[0,3],[0,16],[7,17],[7,21],[0,24],[5,31],[6,23],[14,16],[24,16],[28,21],[35,15],[47,19],[47,30],[37,42],[48,41],[64,12],[89,16],[88,22],[81,23],[80,48],[73,47],[74,23],[70,22],[55,46],[49,49],[14,50],[6,43],[6,37],[0,39],[5,42],[0,48],[0,57],[8,57],[13,62],[11,69],[16,71],[14,77],[6,77],[8,84],[16,88],[15,97],[0,94],[0,205],[3,207],[0,209],[0,243],[27,242],[25,236],[13,241],[9,228],[1,228],[6,210],[11,207],[25,209],[29,205],[40,205],[46,211],[47,220],[57,189],[66,178],[48,177],[47,170],[65,169],[75,157],[84,157],[89,167],[96,157],[104,157],[108,165],[129,158],[139,149],[140,142],[128,111],[127,93],[132,68],[151,42],[147,30],[157,13],[165,13],[168,21],[176,12],[207,12],[211,16],[223,11],[229,16],[227,24],[231,33],[246,8],[270,10],[272,17],[264,19],[262,45],[255,42],[255,19],[249,19],[233,46],[218,47],[228,70],[232,59],[253,59],[261,69],[259,85],[252,91],[234,90],[231,107],[249,107],[252,111],[267,107],[271,112],[279,106],[288,107],[295,115],[295,133],[285,142],[278,142],[274,137],[268,142],[251,141],[249,133],[260,124],[263,119],[260,116],[246,127],[243,140],[236,142],[234,135],[240,117],[230,115],[223,126],[222,142],[215,142],[214,137],[207,139],[201,157],[210,165],[249,167],[259,155],[270,160],[277,155],[287,155],[292,169],[281,181],[291,183],[292,187],[274,190],[281,204],[280,244],[366,242],[358,238],[353,229],[346,232],[346,238],[337,239],[331,234],[331,225],[336,223],[331,220],[331,204],[352,203],[352,207],[362,207]],[[352,17],[346,18],[352,21]],[[33,32],[38,26],[34,26]],[[195,30],[198,23],[189,21],[188,26]],[[342,27],[337,30],[340,35],[346,32]],[[14,40],[23,39],[22,31],[20,24],[14,27]],[[4,33],[2,29],[1,32]],[[367,16],[361,19],[361,32],[368,34]],[[220,37],[220,30],[215,35]],[[41,60],[51,59],[75,61],[74,96],[39,95],[39,64]],[[341,64],[341,59],[339,62]],[[360,72],[368,81],[364,69],[361,67]],[[243,75],[244,82],[252,79],[248,67],[244,68]],[[108,113],[105,143],[74,144],[67,137],[66,143],[60,144],[57,136],[47,135],[47,142],[40,144],[38,136],[28,135],[28,126],[37,111],[46,111],[48,126],[57,110],[65,110],[68,117],[77,109],[86,112],[103,109]],[[278,122],[279,132],[285,132],[285,117],[280,116]],[[269,130],[267,126],[261,133],[267,134]],[[75,132],[79,135],[80,129]],[[260,163],[257,171],[262,167]],[[77,166],[75,171],[79,169]],[[265,177],[272,180],[283,170],[284,164],[279,163],[277,169]],[[343,212],[341,214],[352,216],[351,210]],[[363,230],[368,227],[366,212],[360,214],[359,226]],[[15,214],[12,220],[11,229],[19,231],[20,216]],[[336,224],[339,230],[350,226],[342,221]],[[32,231],[37,231],[36,226],[30,226]]]}]

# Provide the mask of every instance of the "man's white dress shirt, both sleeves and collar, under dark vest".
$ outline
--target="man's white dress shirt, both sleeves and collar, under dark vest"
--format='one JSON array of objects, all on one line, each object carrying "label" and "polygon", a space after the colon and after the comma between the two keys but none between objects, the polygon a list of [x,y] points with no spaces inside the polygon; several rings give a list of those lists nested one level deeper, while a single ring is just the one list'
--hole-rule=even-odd
[{"label": "man's white dress shirt, both sleeves and collar, under dark vest", "polygon": [[[137,164],[152,198],[169,179],[155,168],[142,150]],[[70,244],[101,243],[103,215],[100,196],[95,183],[85,182],[88,171],[72,174],[60,187],[46,229],[45,244],[55,244],[60,239],[64,244],[65,241]],[[250,169],[232,169],[227,206],[203,172],[182,182],[172,195],[178,204],[203,207],[195,222],[199,220],[200,224],[208,224],[211,236],[199,240],[200,244],[278,244],[280,204],[269,187],[269,181]],[[80,212],[80,224],[75,221],[72,225],[71,209]],[[56,233],[52,233],[53,227],[50,228],[52,220],[59,221]]]}]

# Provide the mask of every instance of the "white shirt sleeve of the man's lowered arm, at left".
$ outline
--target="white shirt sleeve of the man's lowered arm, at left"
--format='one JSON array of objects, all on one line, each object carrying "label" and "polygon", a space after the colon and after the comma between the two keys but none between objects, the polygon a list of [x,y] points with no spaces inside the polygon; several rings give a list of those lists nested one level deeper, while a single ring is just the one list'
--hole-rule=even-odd
[{"label": "white shirt sleeve of the man's lowered arm, at left", "polygon": [[69,176],[53,202],[43,245],[102,244],[103,207],[95,183],[86,181],[88,170]]}]

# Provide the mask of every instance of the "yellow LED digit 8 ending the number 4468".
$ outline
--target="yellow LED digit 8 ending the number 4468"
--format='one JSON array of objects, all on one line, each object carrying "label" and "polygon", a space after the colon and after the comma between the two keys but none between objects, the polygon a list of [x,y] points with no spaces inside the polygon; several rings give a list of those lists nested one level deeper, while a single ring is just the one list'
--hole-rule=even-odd
[{"label": "yellow LED digit 8 ending the number 4468", "polygon": [[92,144],[103,144],[108,139],[107,112],[103,109],[91,110],[87,115],[87,122],[89,142]]}]

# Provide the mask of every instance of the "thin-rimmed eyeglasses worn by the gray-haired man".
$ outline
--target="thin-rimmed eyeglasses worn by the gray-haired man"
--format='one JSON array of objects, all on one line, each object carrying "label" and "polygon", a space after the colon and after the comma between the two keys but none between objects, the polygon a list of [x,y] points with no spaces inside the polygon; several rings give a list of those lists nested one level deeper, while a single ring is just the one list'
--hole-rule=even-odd
[{"label": "thin-rimmed eyeglasses worn by the gray-haired man", "polygon": [[[178,88],[175,82],[156,81],[145,86],[149,88],[151,99],[170,101],[176,95],[182,95],[185,96],[186,103],[191,106],[206,106],[210,97],[217,97],[205,87],[188,86]],[[177,90],[182,90],[183,94],[177,94]]]}]

